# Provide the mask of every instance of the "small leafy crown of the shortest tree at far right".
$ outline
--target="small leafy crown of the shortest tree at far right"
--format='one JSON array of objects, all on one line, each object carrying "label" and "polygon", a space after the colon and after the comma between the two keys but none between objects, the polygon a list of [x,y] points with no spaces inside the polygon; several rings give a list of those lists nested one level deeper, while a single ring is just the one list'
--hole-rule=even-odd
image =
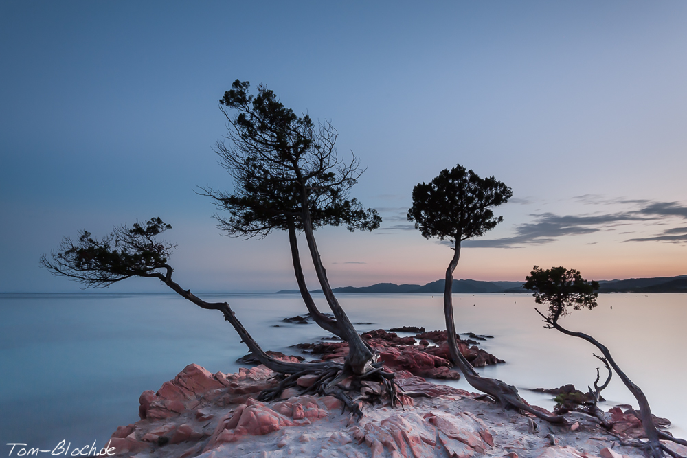
[{"label": "small leafy crown of the shortest tree at far right", "polygon": [[564,267],[543,270],[534,266],[530,275],[525,277],[523,288],[534,291],[537,304],[548,305],[548,318],[555,323],[559,317],[569,313],[568,309],[596,307],[598,282],[587,282],[579,271]]}]

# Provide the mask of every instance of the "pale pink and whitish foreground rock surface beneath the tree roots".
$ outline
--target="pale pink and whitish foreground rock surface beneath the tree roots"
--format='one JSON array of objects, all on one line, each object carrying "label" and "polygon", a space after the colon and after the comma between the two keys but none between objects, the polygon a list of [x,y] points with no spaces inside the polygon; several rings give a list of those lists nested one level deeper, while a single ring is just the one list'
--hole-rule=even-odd
[{"label": "pale pink and whitish foreground rock surface beneath the tree roots", "polygon": [[336,398],[299,396],[297,389],[282,400],[256,401],[273,386],[271,376],[264,366],[211,374],[189,365],[142,394],[142,420],[117,428],[111,446],[137,458],[642,457],[584,415],[572,414],[572,427],[552,426],[408,372],[397,374],[398,385],[414,397],[404,396],[403,408],[363,405],[359,422]]}]

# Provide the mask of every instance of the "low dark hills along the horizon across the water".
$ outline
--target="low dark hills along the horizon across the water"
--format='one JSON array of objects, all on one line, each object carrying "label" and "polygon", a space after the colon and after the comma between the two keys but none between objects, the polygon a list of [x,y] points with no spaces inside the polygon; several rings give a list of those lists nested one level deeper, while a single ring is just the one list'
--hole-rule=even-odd
[{"label": "low dark hills along the horizon across the water", "polygon": [[[334,288],[335,293],[443,293],[445,280],[425,285],[378,283],[355,288]],[[480,280],[453,280],[453,293],[528,293],[523,282],[480,282]],[[600,280],[599,293],[687,293],[687,275],[678,277],[631,278],[627,280]],[[281,290],[277,294],[297,294],[298,290]],[[314,290],[311,293],[322,293]]]}]

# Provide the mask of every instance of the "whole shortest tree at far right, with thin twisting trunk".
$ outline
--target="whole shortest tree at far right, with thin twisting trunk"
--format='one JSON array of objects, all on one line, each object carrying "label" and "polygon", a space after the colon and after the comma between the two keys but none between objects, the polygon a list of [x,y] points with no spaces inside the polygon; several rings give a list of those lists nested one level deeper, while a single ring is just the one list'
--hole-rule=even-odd
[{"label": "whole shortest tree at far right, with thin twisting trunk", "polygon": [[543,318],[545,323],[544,327],[559,330],[568,336],[578,337],[598,348],[604,356],[600,359],[605,360],[605,362],[613,367],[613,370],[616,371],[620,380],[622,380],[624,385],[637,400],[640,407],[642,426],[644,426],[644,431],[646,431],[648,440],[647,442],[631,443],[631,445],[646,450],[646,452],[654,458],[663,457],[663,452],[675,458],[684,458],[662,444],[660,439],[677,442],[678,444],[686,446],[687,441],[684,439],[677,439],[656,428],[651,415],[649,401],[646,399],[644,392],[642,392],[642,389],[635,385],[622,369],[618,367],[618,363],[616,363],[616,360],[611,356],[608,347],[589,334],[570,331],[567,328],[563,328],[560,323],[560,319],[570,314],[571,309],[580,310],[582,308],[587,308],[588,310],[592,310],[596,307],[596,298],[598,297],[597,290],[599,288],[598,282],[587,282],[587,280],[582,277],[581,273],[573,269],[568,270],[564,267],[552,267],[543,270],[537,266],[534,266],[530,275],[525,278],[525,281],[523,288],[534,292],[532,294],[534,296],[534,301],[537,304],[548,307],[545,312],[540,312],[539,309],[534,308]]}]

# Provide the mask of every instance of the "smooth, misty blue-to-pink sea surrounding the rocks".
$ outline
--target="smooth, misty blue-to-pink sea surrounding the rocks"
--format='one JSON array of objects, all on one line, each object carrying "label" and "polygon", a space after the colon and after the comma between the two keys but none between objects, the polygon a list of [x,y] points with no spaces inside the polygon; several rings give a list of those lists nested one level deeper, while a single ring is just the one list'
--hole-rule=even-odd
[{"label": "smooth, misty blue-to-pink sea surrounding the rocks", "polygon": [[[297,295],[207,295],[227,299],[266,350],[327,336],[316,325],[279,323],[302,314]],[[325,310],[324,299],[318,304]],[[359,331],[401,325],[443,329],[439,295],[339,295]],[[594,348],[545,330],[529,295],[454,295],[458,332],[495,336],[486,350],[505,365],[480,369],[519,388],[591,385]],[[612,309],[611,309],[612,306]],[[656,415],[686,437],[687,295],[601,295],[593,311],[563,324],[605,343],[620,367],[647,394]],[[279,324],[279,328],[272,325]],[[60,440],[101,444],[115,428],[138,419],[138,397],[157,390],[185,365],[234,372],[246,353],[218,312],[174,295],[0,295],[0,439],[42,448]],[[455,382],[466,387],[464,382]],[[552,407],[547,395],[523,397]],[[617,377],[604,391],[607,409],[635,404]]]}]

